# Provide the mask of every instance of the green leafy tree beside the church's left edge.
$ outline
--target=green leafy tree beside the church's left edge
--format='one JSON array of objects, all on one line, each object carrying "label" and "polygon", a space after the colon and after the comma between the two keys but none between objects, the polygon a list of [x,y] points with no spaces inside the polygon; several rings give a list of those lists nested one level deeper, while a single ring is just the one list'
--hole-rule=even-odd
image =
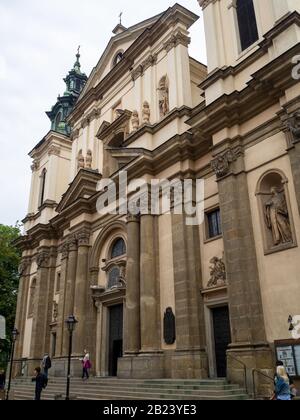
[{"label": "green leafy tree beside the church's left edge", "polygon": [[2,352],[9,351],[10,332],[15,322],[21,253],[14,241],[20,235],[18,224],[15,227],[0,224],[0,314],[6,318],[7,331],[7,341],[1,343]]}]

